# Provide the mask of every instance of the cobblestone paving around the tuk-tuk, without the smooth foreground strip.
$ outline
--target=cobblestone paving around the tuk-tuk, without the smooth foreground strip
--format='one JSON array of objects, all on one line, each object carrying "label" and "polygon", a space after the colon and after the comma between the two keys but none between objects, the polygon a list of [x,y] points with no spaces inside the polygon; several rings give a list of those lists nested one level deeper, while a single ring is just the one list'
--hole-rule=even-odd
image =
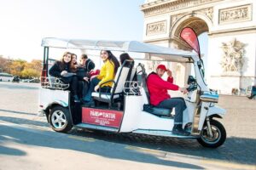
[{"label": "cobblestone paving around the tuk-tuk, without the smooth foreground strip", "polygon": [[[1,122],[9,122],[51,132],[45,117],[37,116],[38,87],[39,84],[0,82],[0,125]],[[224,119],[219,120],[226,128],[227,139],[217,149],[204,148],[195,139],[78,130],[73,130],[67,135],[73,139],[95,139],[113,144],[125,144],[128,150],[137,150],[153,156],[164,155],[178,161],[189,161],[192,164],[200,164],[197,166],[202,168],[256,169],[256,100],[221,95],[218,105],[227,111]]]}]

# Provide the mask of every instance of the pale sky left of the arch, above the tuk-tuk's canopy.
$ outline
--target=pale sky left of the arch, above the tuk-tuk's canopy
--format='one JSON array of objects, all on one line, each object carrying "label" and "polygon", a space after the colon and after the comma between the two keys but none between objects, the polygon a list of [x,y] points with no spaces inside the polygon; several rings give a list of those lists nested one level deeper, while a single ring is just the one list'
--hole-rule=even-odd
[{"label": "pale sky left of the arch, above the tuk-tuk's canopy", "polygon": [[0,0],[0,55],[43,59],[44,37],[143,41],[145,0]]}]

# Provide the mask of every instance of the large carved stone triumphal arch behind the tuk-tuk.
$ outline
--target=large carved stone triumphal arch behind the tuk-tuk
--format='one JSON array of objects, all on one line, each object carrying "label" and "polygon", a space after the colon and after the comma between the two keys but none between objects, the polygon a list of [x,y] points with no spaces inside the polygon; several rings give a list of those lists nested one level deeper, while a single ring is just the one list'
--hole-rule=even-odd
[{"label": "large carved stone triumphal arch behind the tuk-tuk", "polygon": [[[184,26],[197,35],[208,34],[207,83],[221,94],[256,84],[255,0],[146,0],[143,41],[189,49],[179,39]],[[189,74],[187,65],[173,64],[177,74]],[[179,70],[179,71],[177,71]],[[180,71],[182,70],[182,71]],[[185,83],[178,80],[177,83]]]}]

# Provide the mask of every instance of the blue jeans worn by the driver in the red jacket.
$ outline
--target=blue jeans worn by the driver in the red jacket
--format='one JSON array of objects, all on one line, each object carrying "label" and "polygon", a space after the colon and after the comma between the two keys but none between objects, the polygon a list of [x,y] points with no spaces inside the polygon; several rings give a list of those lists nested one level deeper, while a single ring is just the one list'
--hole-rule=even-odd
[{"label": "blue jeans worn by the driver in the red jacket", "polygon": [[183,124],[183,111],[187,108],[183,98],[165,99],[156,107],[163,107],[166,109],[175,108],[174,124]]}]

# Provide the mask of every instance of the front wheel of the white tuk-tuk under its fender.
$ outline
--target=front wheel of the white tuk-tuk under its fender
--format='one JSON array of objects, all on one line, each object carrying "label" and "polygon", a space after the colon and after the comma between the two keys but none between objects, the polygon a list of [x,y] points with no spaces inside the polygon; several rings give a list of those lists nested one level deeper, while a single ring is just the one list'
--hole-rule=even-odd
[{"label": "front wheel of the white tuk-tuk under its fender", "polygon": [[216,120],[211,120],[210,124],[212,127],[213,137],[211,138],[207,135],[208,127],[207,123],[205,123],[201,130],[201,137],[197,139],[197,141],[204,147],[217,148],[218,146],[224,144],[226,139],[226,130],[224,126]]}]

